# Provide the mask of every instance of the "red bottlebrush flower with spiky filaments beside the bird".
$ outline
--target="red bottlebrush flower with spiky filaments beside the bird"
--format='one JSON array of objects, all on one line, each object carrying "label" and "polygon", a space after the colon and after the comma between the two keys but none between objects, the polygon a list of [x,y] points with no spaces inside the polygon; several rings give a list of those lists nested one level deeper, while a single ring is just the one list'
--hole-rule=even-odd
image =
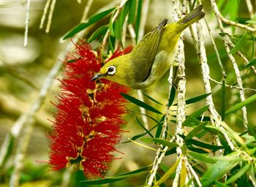
[{"label": "red bottlebrush flower with spiky filaments beside the bird", "polygon": [[[121,52],[113,56],[117,54]],[[76,164],[87,178],[97,178],[110,169],[126,112],[119,93],[128,89],[108,80],[90,82],[100,67],[97,53],[83,41],[67,58],[49,136],[48,162],[53,170]]]}]

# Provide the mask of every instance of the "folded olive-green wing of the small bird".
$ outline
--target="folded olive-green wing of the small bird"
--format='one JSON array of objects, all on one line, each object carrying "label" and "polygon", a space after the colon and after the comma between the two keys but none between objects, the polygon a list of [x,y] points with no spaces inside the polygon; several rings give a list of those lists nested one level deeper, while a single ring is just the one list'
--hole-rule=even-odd
[{"label": "folded olive-green wing of the small bird", "polygon": [[151,72],[154,58],[157,55],[159,42],[162,37],[162,31],[167,23],[167,19],[162,20],[158,26],[140,40],[135,49],[132,50],[132,64],[135,66],[134,80],[136,83],[145,81]]}]

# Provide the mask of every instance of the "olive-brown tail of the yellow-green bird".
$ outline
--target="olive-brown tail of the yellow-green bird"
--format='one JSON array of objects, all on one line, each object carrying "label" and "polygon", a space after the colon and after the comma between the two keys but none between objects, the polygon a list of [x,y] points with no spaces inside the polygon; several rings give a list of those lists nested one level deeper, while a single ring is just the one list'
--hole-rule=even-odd
[{"label": "olive-brown tail of the yellow-green bird", "polygon": [[178,20],[176,22],[176,24],[178,24],[176,28],[177,29],[176,32],[180,33],[185,28],[190,26],[192,23],[195,23],[197,22],[197,20],[200,20],[201,18],[203,18],[206,15],[206,13],[203,12],[202,9],[203,9],[203,4],[200,4],[198,7],[196,7],[191,12],[189,12],[189,14],[186,15],[184,18],[181,18],[181,20]]}]

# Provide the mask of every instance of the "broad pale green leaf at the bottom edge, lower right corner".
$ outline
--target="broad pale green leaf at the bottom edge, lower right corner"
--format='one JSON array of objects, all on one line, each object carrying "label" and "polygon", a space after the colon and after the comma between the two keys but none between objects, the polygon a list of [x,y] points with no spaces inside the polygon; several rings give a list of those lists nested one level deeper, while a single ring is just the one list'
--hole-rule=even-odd
[{"label": "broad pale green leaf at the bottom edge, lower right corner", "polygon": [[202,186],[211,186],[215,180],[219,180],[230,171],[233,167],[236,167],[238,164],[237,161],[217,161],[215,164],[212,164],[201,178]]}]

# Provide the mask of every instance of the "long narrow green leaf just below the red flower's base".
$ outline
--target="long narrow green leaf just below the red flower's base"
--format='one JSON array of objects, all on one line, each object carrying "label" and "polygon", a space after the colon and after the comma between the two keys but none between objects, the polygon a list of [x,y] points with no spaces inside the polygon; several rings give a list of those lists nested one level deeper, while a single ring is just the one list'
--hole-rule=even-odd
[{"label": "long narrow green leaf just below the red flower's base", "polygon": [[151,169],[151,166],[142,167],[140,169],[136,169],[132,172],[127,172],[127,173],[124,173],[121,175],[116,175],[116,176],[109,177],[109,178],[101,178],[101,179],[97,179],[97,180],[82,180],[82,181],[80,181],[80,183],[83,183],[85,185],[99,185],[99,184],[114,183],[118,180],[124,180],[126,178],[132,178],[137,175],[148,173],[148,172],[150,172],[150,169]]}]

